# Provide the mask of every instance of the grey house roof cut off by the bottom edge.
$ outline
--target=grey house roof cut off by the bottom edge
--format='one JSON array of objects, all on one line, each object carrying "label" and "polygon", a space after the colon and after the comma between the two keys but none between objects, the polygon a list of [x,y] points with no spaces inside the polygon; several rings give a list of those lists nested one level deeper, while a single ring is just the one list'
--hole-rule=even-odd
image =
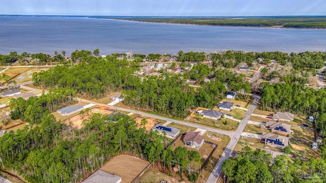
[{"label": "grey house roof cut off by the bottom edge", "polygon": [[103,170],[96,170],[83,180],[82,183],[119,183],[121,182],[121,178],[121,176],[116,174],[110,174]]}]

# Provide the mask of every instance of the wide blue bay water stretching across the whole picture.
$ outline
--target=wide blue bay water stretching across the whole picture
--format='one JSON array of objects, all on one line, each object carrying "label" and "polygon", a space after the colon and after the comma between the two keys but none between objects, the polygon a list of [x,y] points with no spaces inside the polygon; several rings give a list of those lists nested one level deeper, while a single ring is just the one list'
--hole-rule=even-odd
[{"label": "wide blue bay water stretching across the whole picture", "polygon": [[326,51],[326,29],[147,23],[86,17],[0,16],[0,53],[98,48],[109,53]]}]

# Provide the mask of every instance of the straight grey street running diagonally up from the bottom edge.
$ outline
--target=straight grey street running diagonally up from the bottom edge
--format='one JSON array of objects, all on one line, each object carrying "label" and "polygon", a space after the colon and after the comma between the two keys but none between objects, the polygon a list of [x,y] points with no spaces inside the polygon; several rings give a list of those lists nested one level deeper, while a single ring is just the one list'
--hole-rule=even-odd
[{"label": "straight grey street running diagonally up from the bottom edge", "polygon": [[232,151],[236,145],[236,143],[238,142],[240,135],[242,134],[244,127],[246,127],[250,116],[252,115],[252,113],[254,112],[258,101],[260,99],[259,96],[253,95],[253,97],[255,97],[255,100],[253,101],[252,105],[250,106],[249,110],[247,111],[246,116],[244,116],[244,118],[241,120],[240,125],[238,127],[238,129],[235,131],[235,133],[233,133],[232,135],[230,135],[231,140],[229,142],[229,144],[226,146],[220,160],[218,161],[218,163],[215,165],[212,173],[209,175],[208,179],[206,182],[217,182],[221,173],[222,173],[222,164],[223,162],[228,159],[230,157],[230,155],[232,154]]}]

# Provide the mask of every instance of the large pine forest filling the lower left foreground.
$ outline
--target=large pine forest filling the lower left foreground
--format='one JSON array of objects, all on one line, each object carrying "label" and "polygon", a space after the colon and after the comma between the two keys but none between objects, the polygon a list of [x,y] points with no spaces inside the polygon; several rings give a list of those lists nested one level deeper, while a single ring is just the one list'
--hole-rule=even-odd
[{"label": "large pine forest filling the lower left foreground", "polygon": [[[128,153],[168,171],[180,165],[180,175],[186,173],[191,180],[198,178],[199,166],[194,165],[201,164],[200,154],[182,147],[174,151],[171,146],[165,148],[164,136],[153,131],[146,133],[147,121],[138,128],[130,116],[119,116],[120,119],[115,121],[95,113],[84,119],[84,128],[73,129],[56,121],[49,113],[49,109],[70,100],[69,95],[62,100],[53,100],[57,97],[60,98],[52,92],[40,99],[12,102],[16,104],[12,113],[19,114],[30,125],[0,138],[0,157],[6,170],[17,171],[29,182],[76,182],[115,155]],[[29,108],[37,109],[33,115],[41,116],[39,121],[30,117]]]}]

